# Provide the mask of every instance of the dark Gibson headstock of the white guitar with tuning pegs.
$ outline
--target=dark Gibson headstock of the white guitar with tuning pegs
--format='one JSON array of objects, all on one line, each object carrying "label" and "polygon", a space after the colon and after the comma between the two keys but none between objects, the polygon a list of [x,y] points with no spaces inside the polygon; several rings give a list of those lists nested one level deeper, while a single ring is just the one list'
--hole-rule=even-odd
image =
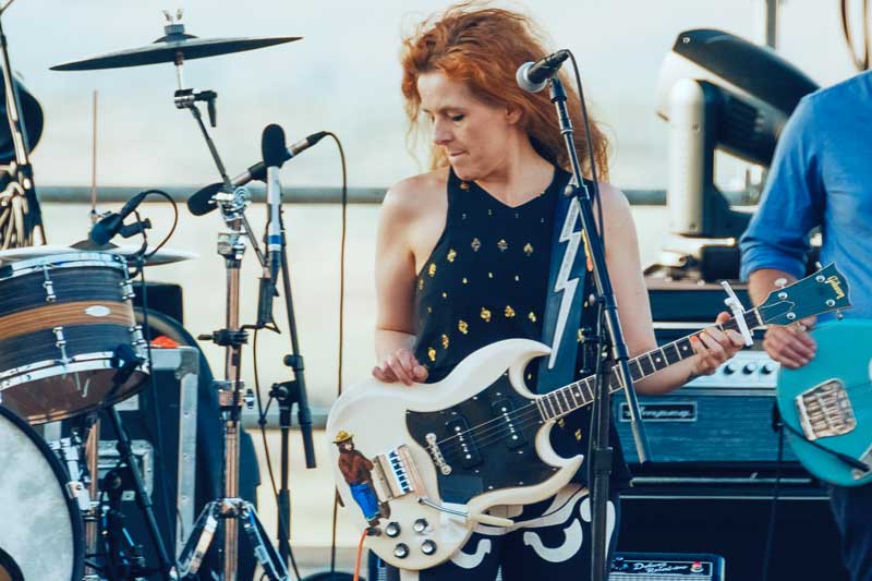
[{"label": "dark Gibson headstock of the white guitar with tuning pegs", "polygon": [[774,290],[758,306],[763,323],[789,325],[806,317],[850,308],[848,281],[829,264],[789,287]]}]

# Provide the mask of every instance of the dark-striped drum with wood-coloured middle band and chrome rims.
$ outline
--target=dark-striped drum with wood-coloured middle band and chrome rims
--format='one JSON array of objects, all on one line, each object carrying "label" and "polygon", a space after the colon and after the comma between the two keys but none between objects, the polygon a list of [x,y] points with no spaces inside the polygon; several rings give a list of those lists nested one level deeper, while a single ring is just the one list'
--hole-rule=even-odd
[{"label": "dark-striped drum with wood-coloured middle band and chrome rims", "polygon": [[123,257],[72,252],[0,267],[0,401],[32,424],[121,401],[146,377],[118,387],[116,350],[145,354]]}]

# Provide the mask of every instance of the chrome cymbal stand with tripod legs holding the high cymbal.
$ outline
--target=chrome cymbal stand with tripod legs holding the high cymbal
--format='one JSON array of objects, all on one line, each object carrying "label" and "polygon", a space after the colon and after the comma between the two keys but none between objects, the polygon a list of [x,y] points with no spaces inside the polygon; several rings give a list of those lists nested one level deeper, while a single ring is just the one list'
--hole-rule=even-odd
[{"label": "chrome cymbal stand with tripod legs holding the high cymbal", "polygon": [[[171,24],[170,26],[173,25]],[[174,26],[181,26],[181,24],[175,24]],[[249,407],[254,401],[251,389],[247,390],[243,398],[242,392],[245,386],[240,378],[242,346],[247,342],[247,332],[240,326],[239,322],[240,267],[245,252],[246,238],[255,250],[262,266],[265,261],[257,245],[257,239],[253,235],[251,226],[245,218],[249,192],[244,187],[233,187],[197,108],[198,102],[205,101],[207,104],[209,121],[215,126],[215,100],[217,94],[211,90],[195,92],[191,88],[184,88],[182,86],[183,61],[183,55],[177,55],[175,66],[179,89],[174,95],[175,107],[191,111],[206,140],[225,185],[223,191],[215,195],[215,201],[221,209],[221,215],[227,226],[227,231],[218,234],[217,244],[218,254],[223,256],[227,270],[226,327],[214,331],[211,335],[199,337],[199,339],[211,340],[226,349],[225,379],[215,382],[215,386],[218,388],[218,404],[223,424],[225,456],[222,476],[225,488],[223,497],[208,503],[197,518],[194,530],[179,559],[180,565],[177,573],[179,578],[184,578],[197,572],[216,530],[221,526],[223,530],[223,546],[219,553],[221,562],[220,579],[222,581],[235,581],[239,568],[238,521],[240,521],[252,544],[254,556],[264,568],[264,572],[272,581],[286,581],[289,579],[287,568],[276,554],[276,549],[267,541],[254,505],[239,498],[240,416],[243,401]]]}]

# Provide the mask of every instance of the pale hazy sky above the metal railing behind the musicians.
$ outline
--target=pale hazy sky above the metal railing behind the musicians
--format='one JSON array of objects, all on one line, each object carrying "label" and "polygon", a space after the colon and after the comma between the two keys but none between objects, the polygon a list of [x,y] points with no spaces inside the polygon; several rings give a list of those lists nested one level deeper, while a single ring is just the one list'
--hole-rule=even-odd
[{"label": "pale hazy sky above the metal railing behind the musicians", "polygon": [[[655,116],[655,88],[678,33],[716,27],[755,40],[762,14],[762,0],[495,3],[532,14],[549,32],[554,48],[576,52],[593,110],[614,140],[613,181],[625,187],[666,183],[666,124]],[[171,64],[48,70],[149,44],[162,36],[161,9],[183,8],[187,32],[204,38],[304,37],[186,64],[189,86],[219,95],[213,135],[229,173],[258,160],[263,128],[278,123],[289,142],[334,131],[346,147],[351,185],[389,185],[419,171],[404,144],[400,38],[414,22],[447,5],[436,0],[16,0],[3,16],[13,68],[46,117],[34,155],[37,183],[89,183],[94,89],[99,90],[99,184],[217,181],[193,119],[172,104]],[[838,2],[787,0],[779,25],[779,51],[812,78],[827,85],[851,74]],[[336,148],[323,142],[286,165],[282,179],[291,186],[338,185]]]}]

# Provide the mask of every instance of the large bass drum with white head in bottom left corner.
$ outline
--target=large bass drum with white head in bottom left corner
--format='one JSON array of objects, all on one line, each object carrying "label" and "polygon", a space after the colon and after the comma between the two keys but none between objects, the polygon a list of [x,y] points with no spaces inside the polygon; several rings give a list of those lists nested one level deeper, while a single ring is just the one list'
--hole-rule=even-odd
[{"label": "large bass drum with white head in bottom left corner", "polygon": [[70,480],[48,445],[0,406],[0,579],[80,581],[82,515]]}]

